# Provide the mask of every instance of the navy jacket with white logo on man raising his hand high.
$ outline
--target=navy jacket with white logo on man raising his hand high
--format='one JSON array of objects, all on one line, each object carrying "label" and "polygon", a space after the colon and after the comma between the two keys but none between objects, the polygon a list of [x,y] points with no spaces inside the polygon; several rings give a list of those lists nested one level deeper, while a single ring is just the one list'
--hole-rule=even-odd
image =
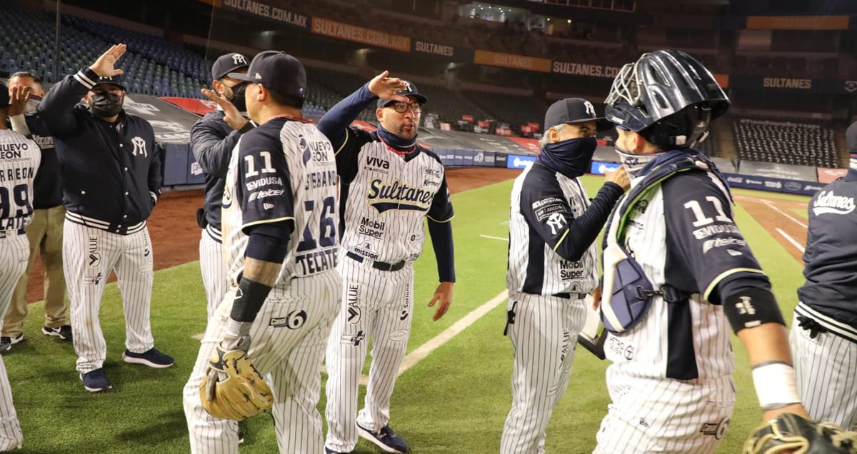
[{"label": "navy jacket with white logo on man raising his hand high", "polygon": [[145,227],[160,196],[160,158],[146,120],[122,111],[111,124],[77,105],[98,78],[92,69],[65,76],[39,116],[56,139],[67,218],[127,235]]}]

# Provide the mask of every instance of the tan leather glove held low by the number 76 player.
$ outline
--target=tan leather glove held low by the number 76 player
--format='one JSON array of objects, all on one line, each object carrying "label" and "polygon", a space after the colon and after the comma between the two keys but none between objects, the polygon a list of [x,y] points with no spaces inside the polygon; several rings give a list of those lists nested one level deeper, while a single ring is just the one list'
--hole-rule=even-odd
[{"label": "tan leather glove held low by the number 76 player", "polygon": [[273,404],[271,388],[243,349],[226,350],[220,344],[208,360],[200,384],[202,407],[214,417],[241,421]]}]

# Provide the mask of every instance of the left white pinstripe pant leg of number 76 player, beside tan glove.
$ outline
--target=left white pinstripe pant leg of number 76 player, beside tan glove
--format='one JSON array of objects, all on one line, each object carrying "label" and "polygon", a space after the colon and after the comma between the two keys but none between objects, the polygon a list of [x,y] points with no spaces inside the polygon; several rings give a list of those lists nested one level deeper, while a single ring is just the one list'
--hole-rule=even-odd
[{"label": "left white pinstripe pant leg of number 76 player, beside tan glove", "polygon": [[188,383],[184,385],[184,415],[188,421],[190,451],[194,454],[237,454],[238,423],[209,415],[202,408],[200,384],[205,375],[208,359],[214,346],[223,338],[225,317],[229,316],[235,290],[228,291],[214,317],[208,320],[206,334],[202,338],[200,353],[196,355],[194,369]]}]

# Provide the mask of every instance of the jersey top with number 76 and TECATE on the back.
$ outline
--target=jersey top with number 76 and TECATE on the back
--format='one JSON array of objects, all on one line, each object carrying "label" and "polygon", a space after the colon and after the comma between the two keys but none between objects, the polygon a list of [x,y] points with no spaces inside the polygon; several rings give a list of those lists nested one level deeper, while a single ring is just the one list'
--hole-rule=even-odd
[{"label": "jersey top with number 76 and TECATE on the back", "polygon": [[243,269],[254,224],[293,220],[278,286],[292,278],[335,272],[339,254],[337,173],[333,146],[315,125],[275,118],[232,153],[223,200],[223,238],[232,279]]}]

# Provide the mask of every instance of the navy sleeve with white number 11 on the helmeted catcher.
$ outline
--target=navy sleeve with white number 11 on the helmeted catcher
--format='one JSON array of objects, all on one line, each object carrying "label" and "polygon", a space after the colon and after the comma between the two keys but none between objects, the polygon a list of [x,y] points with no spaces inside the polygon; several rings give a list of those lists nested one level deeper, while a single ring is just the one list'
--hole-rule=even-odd
[{"label": "navy sleeve with white number 11 on the helmeted catcher", "polygon": [[[710,300],[718,284],[764,273],[733,220],[726,194],[707,174],[694,172],[663,182],[667,268],[685,270],[669,279],[679,290]],[[763,278],[766,280],[766,278]],[[718,299],[718,298],[716,298]]]}]

